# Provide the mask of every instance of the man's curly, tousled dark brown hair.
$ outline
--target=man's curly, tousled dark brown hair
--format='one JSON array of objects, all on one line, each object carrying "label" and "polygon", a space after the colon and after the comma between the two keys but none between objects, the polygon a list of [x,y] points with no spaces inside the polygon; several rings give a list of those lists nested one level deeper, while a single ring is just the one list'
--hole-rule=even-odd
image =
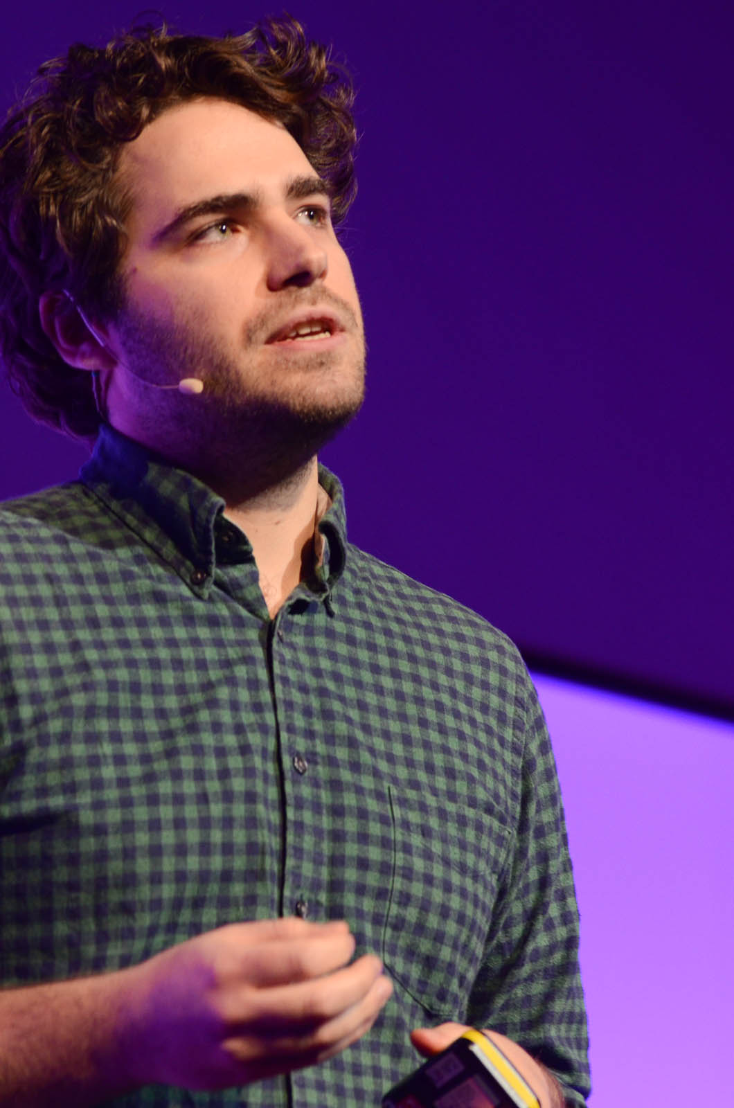
[{"label": "man's curly, tousled dark brown hair", "polygon": [[351,83],[295,20],[221,39],[135,28],[42,65],[0,129],[0,357],[29,413],[77,438],[99,429],[92,377],[58,355],[39,297],[67,290],[100,319],[119,309],[130,208],[115,176],[121,148],[197,96],[282,123],[327,182],[335,223],[354,199]]}]

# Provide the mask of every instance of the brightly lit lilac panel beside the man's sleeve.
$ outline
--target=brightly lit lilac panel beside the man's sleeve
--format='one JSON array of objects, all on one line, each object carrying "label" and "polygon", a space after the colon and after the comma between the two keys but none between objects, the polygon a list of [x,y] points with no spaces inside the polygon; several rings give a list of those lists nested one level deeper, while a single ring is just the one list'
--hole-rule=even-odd
[{"label": "brightly lit lilac panel beside the man's sleeve", "polygon": [[581,911],[591,1105],[728,1105],[734,725],[536,683]]}]

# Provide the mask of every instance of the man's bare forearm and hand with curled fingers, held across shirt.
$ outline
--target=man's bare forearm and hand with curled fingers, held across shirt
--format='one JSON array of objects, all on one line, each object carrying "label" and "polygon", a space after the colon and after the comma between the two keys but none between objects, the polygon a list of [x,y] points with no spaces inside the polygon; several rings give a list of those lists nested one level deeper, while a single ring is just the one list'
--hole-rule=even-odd
[{"label": "man's bare forearm and hand with curled fingers, held across shirt", "polygon": [[234,923],[129,970],[0,991],[3,1108],[89,1108],[144,1085],[221,1089],[323,1061],[393,992],[346,923]]}]

